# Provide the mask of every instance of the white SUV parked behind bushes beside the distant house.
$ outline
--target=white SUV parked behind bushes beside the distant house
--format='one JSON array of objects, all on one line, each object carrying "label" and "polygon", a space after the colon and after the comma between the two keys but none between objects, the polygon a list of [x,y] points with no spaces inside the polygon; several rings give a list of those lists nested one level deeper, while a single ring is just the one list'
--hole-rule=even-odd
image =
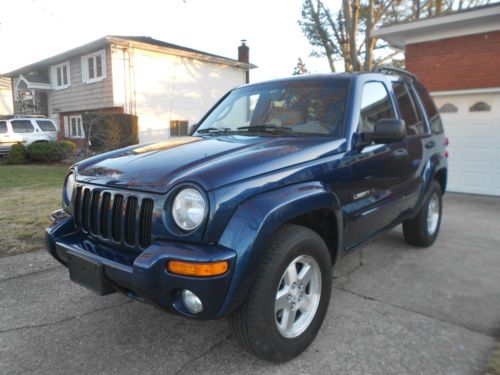
[{"label": "white SUV parked behind bushes beside the distant house", "polygon": [[57,140],[57,127],[51,119],[40,117],[0,118],[0,155],[10,152],[12,145],[29,146],[35,142]]}]

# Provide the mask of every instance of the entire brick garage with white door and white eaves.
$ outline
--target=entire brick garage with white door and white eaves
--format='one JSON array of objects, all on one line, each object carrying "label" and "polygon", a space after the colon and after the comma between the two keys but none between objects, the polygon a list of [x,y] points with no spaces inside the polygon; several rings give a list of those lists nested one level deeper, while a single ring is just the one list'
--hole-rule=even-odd
[{"label": "entire brick garage with white door and white eaves", "polygon": [[436,101],[449,139],[448,190],[500,196],[500,4],[386,25]]}]

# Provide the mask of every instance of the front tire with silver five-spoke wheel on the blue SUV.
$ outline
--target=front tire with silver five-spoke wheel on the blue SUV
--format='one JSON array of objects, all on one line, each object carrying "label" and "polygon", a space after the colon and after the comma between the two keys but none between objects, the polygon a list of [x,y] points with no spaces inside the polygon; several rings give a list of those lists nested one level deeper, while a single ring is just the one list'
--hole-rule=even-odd
[{"label": "front tire with silver five-spoke wheel on the blue SUV", "polygon": [[248,298],[230,318],[240,344],[273,362],[302,353],[325,318],[331,267],[328,248],[316,232],[283,226],[259,265]]}]

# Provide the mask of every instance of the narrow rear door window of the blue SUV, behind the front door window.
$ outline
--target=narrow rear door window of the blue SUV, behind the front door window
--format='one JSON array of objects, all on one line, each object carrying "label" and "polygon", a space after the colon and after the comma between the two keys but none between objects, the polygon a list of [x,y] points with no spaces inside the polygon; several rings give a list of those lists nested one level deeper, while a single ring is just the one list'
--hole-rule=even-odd
[{"label": "narrow rear door window of the blue SUV, behind the front door window", "polygon": [[425,126],[422,115],[418,109],[417,103],[410,94],[409,87],[403,82],[394,82],[392,87],[398,102],[401,118],[406,124],[406,134],[424,134]]}]

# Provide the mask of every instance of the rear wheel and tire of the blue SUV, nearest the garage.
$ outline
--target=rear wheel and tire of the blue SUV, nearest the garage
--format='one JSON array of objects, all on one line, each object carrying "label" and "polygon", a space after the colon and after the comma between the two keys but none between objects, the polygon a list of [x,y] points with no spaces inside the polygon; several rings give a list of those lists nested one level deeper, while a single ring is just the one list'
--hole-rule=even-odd
[{"label": "rear wheel and tire of the blue SUV, nearest the garage", "polygon": [[419,247],[428,247],[436,241],[441,226],[443,193],[434,180],[418,215],[403,223],[406,242]]}]

